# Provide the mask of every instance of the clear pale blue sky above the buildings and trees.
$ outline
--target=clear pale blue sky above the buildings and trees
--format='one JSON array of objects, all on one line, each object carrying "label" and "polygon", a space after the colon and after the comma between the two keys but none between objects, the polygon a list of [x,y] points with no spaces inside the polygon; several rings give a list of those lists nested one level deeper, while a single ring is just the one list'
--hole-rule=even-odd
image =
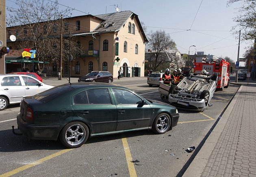
[{"label": "clear pale blue sky above the buildings and trees", "polygon": [[[14,2],[6,0],[6,6],[17,7]],[[239,28],[236,34],[231,29],[236,25],[233,18],[238,13],[239,3],[227,6],[227,0],[59,0],[59,4],[61,9],[69,6],[78,10],[73,10],[72,16],[114,13],[118,6],[120,11],[130,10],[139,15],[147,28],[146,36],[151,30],[165,30],[180,53],[190,51],[193,55],[196,51],[204,51],[237,60]],[[253,41],[241,41],[239,58],[243,58],[252,44]],[[191,45],[196,47],[189,50]]]}]

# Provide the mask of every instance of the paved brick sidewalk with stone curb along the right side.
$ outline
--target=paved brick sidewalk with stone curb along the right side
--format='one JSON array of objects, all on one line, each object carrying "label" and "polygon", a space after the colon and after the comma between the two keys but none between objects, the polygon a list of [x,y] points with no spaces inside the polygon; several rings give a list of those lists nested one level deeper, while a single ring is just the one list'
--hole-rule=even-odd
[{"label": "paved brick sidewalk with stone curb along the right side", "polygon": [[234,84],[241,87],[183,177],[256,177],[256,81]]}]

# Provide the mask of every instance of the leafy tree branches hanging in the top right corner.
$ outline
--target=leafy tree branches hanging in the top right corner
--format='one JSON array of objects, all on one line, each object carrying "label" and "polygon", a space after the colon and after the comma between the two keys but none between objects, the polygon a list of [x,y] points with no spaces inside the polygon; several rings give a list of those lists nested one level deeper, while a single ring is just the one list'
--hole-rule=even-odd
[{"label": "leafy tree branches hanging in the top right corner", "polygon": [[229,0],[228,5],[235,2],[243,2],[243,6],[239,8],[238,15],[234,18],[237,25],[233,27],[241,28],[241,37],[245,40],[252,40],[256,38],[256,0]]}]

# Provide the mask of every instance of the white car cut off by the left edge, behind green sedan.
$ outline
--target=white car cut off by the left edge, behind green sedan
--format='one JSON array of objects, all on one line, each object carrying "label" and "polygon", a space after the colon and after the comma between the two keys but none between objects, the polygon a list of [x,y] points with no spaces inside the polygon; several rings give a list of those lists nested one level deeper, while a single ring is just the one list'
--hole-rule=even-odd
[{"label": "white car cut off by the left edge, behind green sedan", "polygon": [[0,75],[0,111],[9,104],[20,103],[22,97],[31,96],[52,88],[28,75]]}]

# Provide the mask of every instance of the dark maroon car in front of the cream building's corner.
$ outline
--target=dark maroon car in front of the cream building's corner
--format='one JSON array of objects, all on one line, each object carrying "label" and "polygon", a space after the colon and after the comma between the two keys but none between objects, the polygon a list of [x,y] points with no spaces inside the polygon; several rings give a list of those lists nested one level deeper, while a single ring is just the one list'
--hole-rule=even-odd
[{"label": "dark maroon car in front of the cream building's corner", "polygon": [[104,82],[112,83],[113,75],[108,71],[92,71],[87,75],[80,77],[78,82]]}]

